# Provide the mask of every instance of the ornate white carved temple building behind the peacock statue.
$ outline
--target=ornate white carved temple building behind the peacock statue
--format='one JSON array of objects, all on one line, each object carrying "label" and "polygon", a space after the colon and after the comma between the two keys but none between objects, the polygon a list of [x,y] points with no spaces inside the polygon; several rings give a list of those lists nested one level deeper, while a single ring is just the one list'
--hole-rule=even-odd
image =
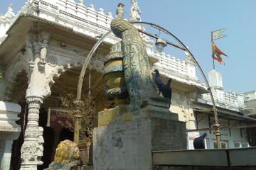
[{"label": "ornate white carved temple building behind the peacock statue", "polygon": [[[140,21],[138,8],[131,11],[130,19]],[[110,31],[113,18],[102,8],[75,0],[28,0],[18,13],[9,6],[0,16],[1,169],[46,169],[58,143],[73,140],[73,132],[47,125],[48,111],[60,107],[60,95],[76,93],[82,64],[97,40]],[[188,149],[193,149],[193,139],[203,132],[208,134],[206,147],[215,148],[212,103],[191,56],[185,53],[186,60],[179,60],[156,52],[154,41],[146,35],[142,39],[152,71],[159,69],[164,81],[173,79],[170,109],[186,123]],[[103,93],[102,70],[110,47],[119,41],[114,34],[108,35],[85,72],[82,93],[91,92],[97,112],[112,106]],[[246,127],[256,120],[246,114],[247,94],[224,92],[220,72],[213,70],[208,77],[223,127],[222,148],[255,145]],[[10,137],[2,138],[2,134]]]}]

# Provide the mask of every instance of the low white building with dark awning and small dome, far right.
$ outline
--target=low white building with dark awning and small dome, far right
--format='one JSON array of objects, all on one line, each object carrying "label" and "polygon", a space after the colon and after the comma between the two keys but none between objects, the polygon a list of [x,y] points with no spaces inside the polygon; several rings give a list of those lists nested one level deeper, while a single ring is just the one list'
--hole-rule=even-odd
[{"label": "low white building with dark awning and small dome, far right", "polygon": [[[219,123],[222,126],[221,147],[249,147],[246,127],[247,124],[255,123],[255,119],[245,114],[246,108],[243,94],[232,91],[225,93],[223,91],[222,76],[220,72],[215,70],[212,70],[208,74],[208,80],[218,109]],[[193,102],[193,113],[196,117],[196,129],[201,129],[199,131],[201,134],[204,132],[208,134],[206,137],[206,147],[208,149],[216,148],[215,131],[204,130],[213,128],[213,124],[215,123],[209,94],[202,94],[196,98],[196,101]],[[188,131],[188,140],[189,137],[193,139],[194,135],[197,136],[198,132],[195,130]],[[190,147],[193,148],[191,145]]]}]

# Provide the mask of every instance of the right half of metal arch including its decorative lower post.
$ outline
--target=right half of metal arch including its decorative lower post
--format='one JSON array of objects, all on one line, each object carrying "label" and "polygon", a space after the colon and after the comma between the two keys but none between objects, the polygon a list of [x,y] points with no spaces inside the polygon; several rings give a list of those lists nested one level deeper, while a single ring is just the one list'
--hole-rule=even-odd
[{"label": "right half of metal arch including its decorative lower post", "polygon": [[216,141],[217,141],[217,147],[220,148],[220,124],[218,123],[218,113],[217,113],[217,108],[215,106],[215,101],[214,101],[214,98],[213,98],[213,93],[210,89],[210,85],[208,83],[208,80],[206,79],[206,75],[204,74],[203,72],[203,69],[201,68],[201,66],[199,65],[198,61],[196,60],[195,57],[193,57],[192,53],[188,50],[188,48],[183,44],[183,42],[181,42],[181,40],[179,40],[178,38],[176,38],[175,35],[173,35],[171,32],[169,32],[169,30],[166,30],[165,28],[162,28],[161,26],[158,26],[154,23],[147,23],[147,22],[132,22],[132,23],[140,23],[140,24],[146,24],[148,26],[151,26],[153,28],[156,28],[158,30],[161,30],[162,32],[168,34],[168,35],[171,35],[172,38],[174,38],[174,40],[176,40],[180,45],[181,47],[183,47],[186,52],[188,52],[189,55],[191,55],[191,57],[193,58],[195,64],[197,65],[199,71],[201,72],[202,76],[203,76],[203,79],[206,81],[206,86],[208,87],[208,91],[210,92],[210,98],[211,98],[211,101],[213,102],[213,113],[214,113],[214,118],[215,118],[215,125],[213,125],[215,127],[215,135],[216,135]]}]

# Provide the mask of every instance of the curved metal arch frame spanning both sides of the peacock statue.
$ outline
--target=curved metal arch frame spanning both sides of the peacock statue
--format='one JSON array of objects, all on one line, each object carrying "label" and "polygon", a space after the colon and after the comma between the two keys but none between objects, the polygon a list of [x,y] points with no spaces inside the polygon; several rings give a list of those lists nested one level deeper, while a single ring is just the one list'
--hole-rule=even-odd
[{"label": "curved metal arch frame spanning both sides of the peacock statue", "polygon": [[[208,87],[208,91],[210,92],[210,98],[211,101],[213,102],[213,112],[214,112],[214,118],[215,118],[215,135],[216,135],[216,141],[217,141],[217,147],[220,148],[220,124],[218,123],[218,113],[217,113],[217,108],[215,106],[215,101],[213,98],[213,93],[210,90],[210,85],[208,83],[208,80],[206,79],[206,75],[203,72],[203,69],[201,68],[200,64],[198,63],[198,61],[196,60],[195,57],[193,57],[193,54],[190,52],[190,50],[188,50],[188,48],[186,47],[186,45],[183,44],[183,42],[181,42],[181,40],[179,40],[178,38],[176,38],[175,35],[173,35],[171,32],[169,32],[169,30],[166,30],[165,28],[158,26],[154,23],[148,23],[148,22],[132,22],[132,24],[136,24],[136,23],[140,23],[140,24],[145,24],[148,26],[151,26],[153,28],[156,28],[158,30],[161,30],[162,32],[166,33],[167,35],[171,35],[172,38],[174,38],[174,40],[176,40],[178,42],[179,45],[181,45],[181,47],[183,47],[183,50],[186,50],[186,52],[188,52],[189,55],[191,55],[191,57],[193,58],[194,62],[196,63],[196,66],[198,67],[198,69],[200,70],[203,79],[206,81],[206,86]],[[92,58],[92,55],[95,53],[95,51],[97,50],[97,48],[100,46],[100,44],[103,42],[103,40],[105,38],[107,38],[107,35],[109,35],[110,33],[112,33],[112,30],[110,30],[109,32],[105,33],[105,35],[102,36],[102,38],[100,38],[100,40],[98,40],[96,42],[96,44],[92,47],[92,50],[90,50],[89,54],[87,55],[84,64],[82,65],[82,70],[80,72],[80,77],[79,77],[79,81],[78,81],[78,91],[77,91],[77,101],[80,101],[81,99],[81,94],[82,94],[82,81],[85,77],[85,71],[87,69],[87,66],[90,62],[90,59]]]}]

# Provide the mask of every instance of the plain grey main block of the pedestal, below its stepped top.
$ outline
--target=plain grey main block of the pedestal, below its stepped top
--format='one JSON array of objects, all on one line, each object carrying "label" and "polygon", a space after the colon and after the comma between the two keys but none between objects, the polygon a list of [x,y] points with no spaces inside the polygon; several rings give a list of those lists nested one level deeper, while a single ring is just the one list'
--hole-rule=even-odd
[{"label": "plain grey main block of the pedestal, below its stepped top", "polygon": [[152,169],[152,151],[186,149],[185,130],[185,123],[151,117],[114,121],[95,128],[94,169]]}]

